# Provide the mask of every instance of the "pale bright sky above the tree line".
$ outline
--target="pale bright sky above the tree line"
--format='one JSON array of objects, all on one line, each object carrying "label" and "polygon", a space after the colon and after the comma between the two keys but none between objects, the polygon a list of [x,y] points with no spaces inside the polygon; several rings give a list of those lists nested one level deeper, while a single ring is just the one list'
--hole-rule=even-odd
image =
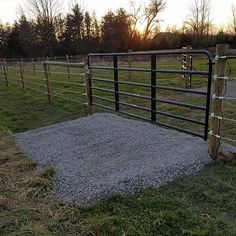
[{"label": "pale bright sky above the tree line", "polygon": [[[0,21],[2,23],[13,23],[19,17],[19,5],[24,5],[27,0],[0,0]],[[66,12],[71,2],[82,4],[86,9],[95,10],[98,17],[101,17],[109,9],[116,10],[119,7],[129,9],[129,0],[64,0],[64,11]],[[144,0],[148,2],[148,0]],[[192,0],[167,0],[165,11],[160,15],[162,19],[161,29],[167,26],[180,26],[186,20],[188,8]],[[212,0],[212,21],[218,26],[227,24],[231,16],[231,5],[236,0]]]}]

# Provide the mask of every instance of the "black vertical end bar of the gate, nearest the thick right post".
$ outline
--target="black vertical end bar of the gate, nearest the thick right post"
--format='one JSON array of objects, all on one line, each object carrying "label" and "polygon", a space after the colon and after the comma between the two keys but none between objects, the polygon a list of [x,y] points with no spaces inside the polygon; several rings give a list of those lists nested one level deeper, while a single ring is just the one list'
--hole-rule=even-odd
[{"label": "black vertical end bar of the gate, nearest the thick right post", "polygon": [[207,100],[206,100],[206,114],[205,114],[205,129],[204,129],[204,140],[208,138],[209,129],[209,114],[210,114],[210,104],[211,104],[211,81],[212,81],[212,68],[213,63],[209,61],[208,69],[208,83],[207,83]]}]

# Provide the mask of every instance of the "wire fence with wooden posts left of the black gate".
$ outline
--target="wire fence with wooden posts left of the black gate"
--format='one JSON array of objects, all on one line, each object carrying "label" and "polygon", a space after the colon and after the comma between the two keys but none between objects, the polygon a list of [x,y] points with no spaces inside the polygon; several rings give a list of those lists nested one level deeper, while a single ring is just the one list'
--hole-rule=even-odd
[{"label": "wire fence with wooden posts left of the black gate", "polygon": [[18,62],[2,60],[1,77],[7,87],[32,92],[34,96],[85,105],[84,64],[81,62]]}]

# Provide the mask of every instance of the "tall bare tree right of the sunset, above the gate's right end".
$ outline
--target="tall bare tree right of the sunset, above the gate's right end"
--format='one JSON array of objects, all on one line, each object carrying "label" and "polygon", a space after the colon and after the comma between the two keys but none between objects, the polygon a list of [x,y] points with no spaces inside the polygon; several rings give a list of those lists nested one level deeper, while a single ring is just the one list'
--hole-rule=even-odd
[{"label": "tall bare tree right of the sunset, above the gate's right end", "polygon": [[193,0],[185,24],[196,36],[209,35],[211,27],[211,0]]}]

